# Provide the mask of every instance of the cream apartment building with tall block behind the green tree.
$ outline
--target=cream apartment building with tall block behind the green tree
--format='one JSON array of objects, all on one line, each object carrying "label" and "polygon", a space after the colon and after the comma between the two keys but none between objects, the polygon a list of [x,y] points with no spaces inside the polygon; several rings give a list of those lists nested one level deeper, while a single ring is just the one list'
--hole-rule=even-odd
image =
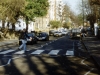
[{"label": "cream apartment building with tall block behind the green tree", "polygon": [[61,20],[64,3],[62,0],[48,0],[49,9],[48,14],[44,17],[36,18],[35,30],[37,31],[47,31],[50,29],[49,22],[51,20]]}]

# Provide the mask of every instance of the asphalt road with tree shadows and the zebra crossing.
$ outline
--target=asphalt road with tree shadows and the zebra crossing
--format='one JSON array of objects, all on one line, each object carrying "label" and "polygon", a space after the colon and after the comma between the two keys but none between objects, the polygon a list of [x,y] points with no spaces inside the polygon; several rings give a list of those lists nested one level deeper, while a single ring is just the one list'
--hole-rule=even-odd
[{"label": "asphalt road with tree shadows and the zebra crossing", "polygon": [[27,46],[26,54],[17,48],[0,48],[0,75],[99,75],[81,42],[68,36]]}]

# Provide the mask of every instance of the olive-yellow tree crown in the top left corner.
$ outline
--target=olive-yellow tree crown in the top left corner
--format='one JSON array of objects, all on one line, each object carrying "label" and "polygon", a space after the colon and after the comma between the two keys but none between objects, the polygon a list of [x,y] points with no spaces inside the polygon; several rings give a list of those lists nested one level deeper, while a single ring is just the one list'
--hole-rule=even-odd
[{"label": "olive-yellow tree crown in the top left corner", "polygon": [[[24,10],[25,0],[1,0],[1,20],[13,24],[18,20],[19,15]],[[8,19],[6,19],[8,18]]]}]

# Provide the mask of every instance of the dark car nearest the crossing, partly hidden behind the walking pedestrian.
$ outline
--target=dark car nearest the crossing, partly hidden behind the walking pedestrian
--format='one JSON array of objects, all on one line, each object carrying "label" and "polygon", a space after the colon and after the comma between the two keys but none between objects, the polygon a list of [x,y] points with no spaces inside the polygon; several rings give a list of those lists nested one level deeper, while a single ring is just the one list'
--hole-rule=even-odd
[{"label": "dark car nearest the crossing, partly hidden behind the walking pedestrian", "polygon": [[[37,40],[36,35],[34,33],[27,33],[27,35],[29,38],[32,37],[31,41],[27,40],[27,43],[26,43],[27,45],[33,45],[33,44],[37,43],[38,40]],[[22,44],[22,42],[21,42],[21,39],[19,38],[19,45],[20,44]]]}]

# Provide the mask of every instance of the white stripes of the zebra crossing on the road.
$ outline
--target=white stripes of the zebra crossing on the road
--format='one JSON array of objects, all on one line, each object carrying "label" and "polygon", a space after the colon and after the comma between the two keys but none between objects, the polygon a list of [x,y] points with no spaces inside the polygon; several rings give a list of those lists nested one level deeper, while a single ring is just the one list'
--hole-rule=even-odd
[{"label": "white stripes of the zebra crossing on the road", "polygon": [[[61,49],[58,50],[50,50],[50,51],[46,51],[46,50],[28,50],[26,53],[30,54],[30,55],[41,55],[41,54],[48,54],[48,55],[59,55],[59,53],[61,52]],[[18,50],[5,50],[5,51],[0,51],[0,55],[5,54],[5,55],[16,55],[16,54],[23,54],[23,50],[18,51]],[[70,50],[66,50],[65,53],[60,54],[60,55],[74,55],[74,50],[70,49]]]}]

